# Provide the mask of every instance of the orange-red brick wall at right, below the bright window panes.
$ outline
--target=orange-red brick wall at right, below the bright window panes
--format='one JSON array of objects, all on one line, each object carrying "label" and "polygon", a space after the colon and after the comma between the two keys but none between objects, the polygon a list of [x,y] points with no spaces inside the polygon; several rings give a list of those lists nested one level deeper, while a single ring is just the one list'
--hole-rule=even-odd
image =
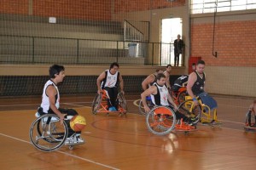
[{"label": "orange-red brick wall at right, below the bright window panes", "polygon": [[212,66],[256,66],[256,21],[230,21],[215,27],[215,49],[212,56],[212,24],[191,26],[191,56],[201,56]]}]

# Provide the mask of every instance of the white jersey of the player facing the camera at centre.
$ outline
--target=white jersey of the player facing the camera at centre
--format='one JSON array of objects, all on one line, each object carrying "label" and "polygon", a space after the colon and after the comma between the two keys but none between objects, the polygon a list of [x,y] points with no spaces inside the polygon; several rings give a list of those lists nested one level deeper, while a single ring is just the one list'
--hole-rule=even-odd
[{"label": "white jersey of the player facing the camera at centre", "polygon": [[119,71],[116,71],[115,74],[111,74],[109,70],[105,71],[106,77],[102,81],[103,88],[117,88],[119,85]]}]

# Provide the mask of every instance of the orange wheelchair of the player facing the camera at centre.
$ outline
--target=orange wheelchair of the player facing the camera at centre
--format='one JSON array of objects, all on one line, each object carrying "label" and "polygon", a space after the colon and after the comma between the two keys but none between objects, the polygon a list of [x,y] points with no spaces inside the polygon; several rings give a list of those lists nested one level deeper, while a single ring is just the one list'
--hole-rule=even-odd
[{"label": "orange wheelchair of the player facing the camera at centre", "polygon": [[105,90],[102,90],[101,94],[96,94],[95,98],[93,99],[91,105],[91,112],[96,115],[97,113],[119,113],[119,116],[126,115],[127,113],[127,103],[125,100],[125,96],[122,93],[119,93],[117,96],[118,111],[108,111],[108,95],[106,94]]}]

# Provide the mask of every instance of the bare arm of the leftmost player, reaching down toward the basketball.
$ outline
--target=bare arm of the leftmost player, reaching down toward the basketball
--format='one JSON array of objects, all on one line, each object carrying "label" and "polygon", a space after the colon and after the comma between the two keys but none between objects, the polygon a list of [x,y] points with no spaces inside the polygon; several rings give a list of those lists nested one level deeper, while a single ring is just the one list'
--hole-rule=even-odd
[{"label": "bare arm of the leftmost player, reaching down toward the basketball", "polygon": [[61,111],[59,111],[57,109],[57,107],[55,106],[55,95],[57,94],[56,92],[56,88],[54,86],[49,86],[47,89],[46,89],[46,94],[49,98],[49,108],[55,112],[55,114],[57,116],[60,117],[60,120],[61,120],[61,124],[63,123],[63,120],[64,120],[64,114],[61,114]]}]

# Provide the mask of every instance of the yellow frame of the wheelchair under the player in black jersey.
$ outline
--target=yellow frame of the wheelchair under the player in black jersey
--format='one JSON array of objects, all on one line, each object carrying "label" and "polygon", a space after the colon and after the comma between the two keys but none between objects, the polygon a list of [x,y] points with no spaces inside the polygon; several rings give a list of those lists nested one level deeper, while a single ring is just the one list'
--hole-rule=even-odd
[{"label": "yellow frame of the wheelchair under the player in black jersey", "polygon": [[[190,96],[185,96],[185,100],[192,100]],[[213,109],[211,111],[210,107],[208,105],[205,105],[202,103],[201,99],[199,97],[196,97],[198,100],[198,103],[201,107],[201,123],[203,124],[211,124],[211,125],[220,125],[221,122],[218,121],[217,117],[217,109]]]}]

